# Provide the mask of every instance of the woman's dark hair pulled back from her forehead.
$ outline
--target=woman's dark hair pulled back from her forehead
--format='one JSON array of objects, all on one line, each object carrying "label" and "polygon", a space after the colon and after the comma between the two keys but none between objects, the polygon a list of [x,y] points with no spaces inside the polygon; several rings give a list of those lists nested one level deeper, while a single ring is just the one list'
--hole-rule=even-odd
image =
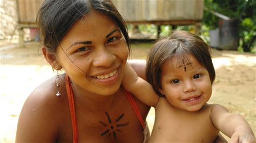
[{"label": "woman's dark hair pulled back from her forehead", "polygon": [[110,0],[45,0],[36,18],[41,44],[55,52],[70,27],[91,11],[110,17],[122,31],[130,50],[127,26]]}]

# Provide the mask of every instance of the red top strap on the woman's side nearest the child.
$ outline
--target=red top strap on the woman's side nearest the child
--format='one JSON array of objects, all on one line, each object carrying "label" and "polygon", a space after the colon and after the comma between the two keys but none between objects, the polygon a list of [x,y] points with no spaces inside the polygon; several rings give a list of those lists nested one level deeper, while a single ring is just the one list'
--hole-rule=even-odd
[{"label": "red top strap on the woman's side nearest the child", "polygon": [[125,91],[126,97],[128,98],[128,100],[129,100],[129,102],[130,102],[130,104],[132,106],[132,109],[133,109],[134,113],[136,114],[136,116],[137,116],[137,118],[139,120],[140,125],[142,125],[143,129],[145,129],[146,128],[145,121],[142,118],[142,114],[139,111],[139,107],[138,107],[134,97],[131,95],[130,92],[126,91],[125,89],[124,89],[124,91]]}]

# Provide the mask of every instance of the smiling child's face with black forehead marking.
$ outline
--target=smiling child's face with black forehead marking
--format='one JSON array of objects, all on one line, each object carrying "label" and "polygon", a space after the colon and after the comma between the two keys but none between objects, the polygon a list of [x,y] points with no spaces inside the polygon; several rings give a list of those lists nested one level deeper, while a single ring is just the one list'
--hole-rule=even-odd
[{"label": "smiling child's face with black forehead marking", "polygon": [[208,71],[198,60],[191,54],[186,54],[186,57],[177,59],[177,56],[173,56],[164,63],[161,71],[162,89],[159,90],[176,108],[198,111],[210,99],[212,84]]}]

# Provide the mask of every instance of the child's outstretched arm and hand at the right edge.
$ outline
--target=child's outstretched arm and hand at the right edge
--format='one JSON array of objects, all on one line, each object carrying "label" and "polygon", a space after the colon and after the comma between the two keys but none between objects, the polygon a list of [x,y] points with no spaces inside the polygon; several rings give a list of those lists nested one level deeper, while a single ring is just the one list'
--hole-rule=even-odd
[{"label": "child's outstretched arm and hand at the right edge", "polygon": [[214,104],[211,119],[215,127],[230,137],[230,142],[256,142],[253,131],[240,115],[229,113],[224,106]]}]

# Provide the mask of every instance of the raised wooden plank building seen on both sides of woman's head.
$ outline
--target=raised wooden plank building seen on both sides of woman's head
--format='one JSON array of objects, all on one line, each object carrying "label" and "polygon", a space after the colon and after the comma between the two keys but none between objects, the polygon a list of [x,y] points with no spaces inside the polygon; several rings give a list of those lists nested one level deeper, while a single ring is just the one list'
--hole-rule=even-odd
[{"label": "raised wooden plank building seen on both sides of woman's head", "polygon": [[[16,0],[19,43],[23,28],[36,27],[36,15],[44,0]],[[195,25],[198,33],[204,0],[112,0],[127,24]]]}]

